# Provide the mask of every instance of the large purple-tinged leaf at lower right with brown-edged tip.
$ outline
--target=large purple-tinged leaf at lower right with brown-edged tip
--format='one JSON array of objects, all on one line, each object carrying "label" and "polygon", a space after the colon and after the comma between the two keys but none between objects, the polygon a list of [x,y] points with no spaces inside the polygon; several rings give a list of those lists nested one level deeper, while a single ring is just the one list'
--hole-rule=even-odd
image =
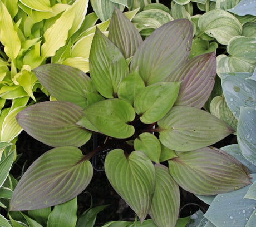
[{"label": "large purple-tinged leaf at lower right with brown-edged tip", "polygon": [[186,191],[215,195],[234,191],[250,184],[248,170],[234,157],[214,147],[190,152],[176,152],[169,170],[174,180]]}]

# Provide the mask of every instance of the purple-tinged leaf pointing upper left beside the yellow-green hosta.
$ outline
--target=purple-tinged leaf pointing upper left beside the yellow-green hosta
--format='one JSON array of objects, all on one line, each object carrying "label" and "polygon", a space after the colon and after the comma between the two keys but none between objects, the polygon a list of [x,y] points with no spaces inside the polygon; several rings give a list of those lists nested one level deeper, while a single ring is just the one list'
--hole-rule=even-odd
[{"label": "purple-tinged leaf pointing upper left beside the yellow-green hosta", "polygon": [[97,93],[90,77],[71,66],[46,64],[35,68],[33,73],[57,100],[72,102],[82,108],[88,106],[84,90]]}]

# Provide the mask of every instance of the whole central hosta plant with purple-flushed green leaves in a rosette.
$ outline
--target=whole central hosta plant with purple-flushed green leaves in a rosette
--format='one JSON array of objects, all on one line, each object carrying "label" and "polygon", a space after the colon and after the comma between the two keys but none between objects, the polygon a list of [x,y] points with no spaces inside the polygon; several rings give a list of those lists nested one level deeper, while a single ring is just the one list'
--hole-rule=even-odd
[{"label": "whole central hosta plant with purple-flushed green leaves in a rosette", "polygon": [[[115,8],[108,37],[99,29],[90,51],[90,77],[71,66],[35,68],[57,101],[31,105],[17,115],[31,136],[53,147],[16,186],[10,210],[46,208],[75,198],[90,183],[90,159],[111,147],[107,179],[141,223],[175,226],[179,186],[216,195],[250,184],[248,170],[211,146],[233,129],[202,110],[214,86],[215,53],[188,60],[192,26],[177,19],[144,41]],[[92,135],[105,137],[82,152]],[[88,150],[88,149],[86,149]]]}]

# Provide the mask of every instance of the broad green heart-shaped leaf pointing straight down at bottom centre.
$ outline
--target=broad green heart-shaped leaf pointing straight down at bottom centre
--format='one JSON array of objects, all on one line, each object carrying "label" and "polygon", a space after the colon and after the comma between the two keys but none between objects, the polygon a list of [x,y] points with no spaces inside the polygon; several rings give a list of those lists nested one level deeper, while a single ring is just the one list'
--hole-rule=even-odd
[{"label": "broad green heart-shaped leaf pointing straight down at bottom centre", "polygon": [[155,167],[151,160],[140,151],[125,155],[123,150],[115,149],[106,156],[104,167],[110,184],[142,223],[155,190]]}]

